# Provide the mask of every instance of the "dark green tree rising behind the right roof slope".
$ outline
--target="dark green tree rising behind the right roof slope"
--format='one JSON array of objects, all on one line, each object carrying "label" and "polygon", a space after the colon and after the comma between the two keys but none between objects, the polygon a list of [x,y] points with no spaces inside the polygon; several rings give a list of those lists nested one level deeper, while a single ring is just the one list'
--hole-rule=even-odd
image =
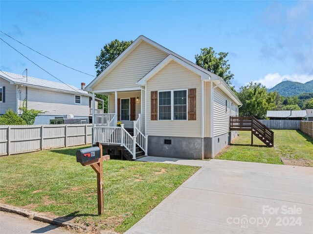
[{"label": "dark green tree rising behind the right roof slope", "polygon": [[231,85],[231,79],[234,78],[229,69],[227,57],[228,53],[220,52],[216,53],[212,47],[201,48],[200,55],[195,55],[196,64],[201,66],[205,70],[212,72],[219,77],[223,78],[226,84]]}]

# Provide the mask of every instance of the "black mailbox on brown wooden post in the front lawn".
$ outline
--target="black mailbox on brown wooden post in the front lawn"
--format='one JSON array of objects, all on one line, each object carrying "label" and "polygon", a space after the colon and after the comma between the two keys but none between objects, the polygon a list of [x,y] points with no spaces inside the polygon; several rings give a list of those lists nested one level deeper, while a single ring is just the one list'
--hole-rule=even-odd
[{"label": "black mailbox on brown wooden post in the front lawn", "polygon": [[76,152],[76,161],[83,166],[90,165],[97,173],[97,194],[98,194],[98,215],[103,214],[103,160],[109,160],[110,156],[102,156],[102,145],[78,150]]}]

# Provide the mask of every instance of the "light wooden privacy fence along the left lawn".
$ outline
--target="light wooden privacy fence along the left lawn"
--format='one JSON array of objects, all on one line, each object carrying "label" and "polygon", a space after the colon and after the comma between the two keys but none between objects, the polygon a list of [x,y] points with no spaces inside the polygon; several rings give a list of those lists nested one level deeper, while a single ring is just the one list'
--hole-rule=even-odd
[{"label": "light wooden privacy fence along the left lawn", "polygon": [[0,156],[90,144],[92,124],[0,125]]}]

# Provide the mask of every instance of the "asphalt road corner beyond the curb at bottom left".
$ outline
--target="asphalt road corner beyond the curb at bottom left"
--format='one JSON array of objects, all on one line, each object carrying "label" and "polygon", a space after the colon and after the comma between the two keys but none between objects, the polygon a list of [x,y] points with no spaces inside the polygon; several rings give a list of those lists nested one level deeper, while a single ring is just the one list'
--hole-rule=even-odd
[{"label": "asphalt road corner beyond the curb at bottom left", "polygon": [[0,234],[73,234],[65,228],[38,222],[21,215],[0,212]]}]

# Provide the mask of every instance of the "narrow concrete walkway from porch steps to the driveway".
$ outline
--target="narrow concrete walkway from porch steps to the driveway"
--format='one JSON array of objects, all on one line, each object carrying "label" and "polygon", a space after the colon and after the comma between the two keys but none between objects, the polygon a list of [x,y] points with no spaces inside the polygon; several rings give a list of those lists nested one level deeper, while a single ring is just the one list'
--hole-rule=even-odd
[{"label": "narrow concrete walkway from porch steps to the driveway", "polygon": [[204,166],[208,161],[205,160],[193,160],[193,159],[181,159],[181,158],[172,158],[172,157],[155,157],[155,156],[145,156],[137,159],[136,161],[141,162],[162,162],[178,165],[187,165],[187,166]]}]

